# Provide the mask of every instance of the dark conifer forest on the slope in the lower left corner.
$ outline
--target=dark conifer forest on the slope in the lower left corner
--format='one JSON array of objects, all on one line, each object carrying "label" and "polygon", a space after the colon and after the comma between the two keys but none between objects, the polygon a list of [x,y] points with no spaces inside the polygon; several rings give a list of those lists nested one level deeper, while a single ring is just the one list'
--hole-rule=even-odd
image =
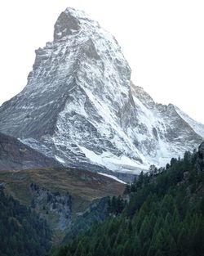
[{"label": "dark conifer forest on the slope in the lower left corner", "polygon": [[50,249],[47,223],[0,188],[0,255],[41,256]]}]

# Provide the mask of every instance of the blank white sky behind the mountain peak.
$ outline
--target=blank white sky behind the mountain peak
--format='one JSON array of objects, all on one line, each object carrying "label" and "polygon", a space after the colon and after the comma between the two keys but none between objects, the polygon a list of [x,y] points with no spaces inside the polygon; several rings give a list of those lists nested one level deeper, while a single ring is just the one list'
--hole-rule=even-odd
[{"label": "blank white sky behind the mountain peak", "polygon": [[66,7],[86,11],[117,38],[136,85],[204,124],[203,0],[1,1],[0,105],[24,88],[34,50],[52,41]]}]

